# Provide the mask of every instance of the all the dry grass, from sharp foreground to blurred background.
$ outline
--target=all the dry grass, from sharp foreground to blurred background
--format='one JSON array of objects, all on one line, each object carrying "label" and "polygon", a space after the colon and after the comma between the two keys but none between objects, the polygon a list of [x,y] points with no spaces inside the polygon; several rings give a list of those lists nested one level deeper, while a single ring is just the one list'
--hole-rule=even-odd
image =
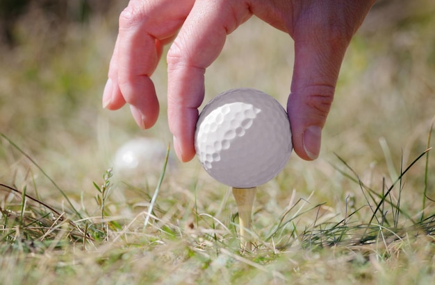
[{"label": "all the dry grass, from sharp foreground to blurred background", "polygon": [[[0,70],[1,283],[430,284],[435,23],[434,6],[418,2],[372,11],[343,62],[322,155],[293,156],[258,187],[255,250],[245,253],[230,189],[195,160],[112,168],[132,137],[170,141],[163,96],[163,114],[145,133],[126,108],[99,107],[123,3],[86,22],[53,25],[38,9],[20,18],[18,43],[2,46],[0,59],[10,67]],[[206,100],[245,86],[284,104],[288,46],[248,21],[208,69]],[[236,68],[252,58],[248,70]],[[161,64],[159,94],[165,80]]]}]

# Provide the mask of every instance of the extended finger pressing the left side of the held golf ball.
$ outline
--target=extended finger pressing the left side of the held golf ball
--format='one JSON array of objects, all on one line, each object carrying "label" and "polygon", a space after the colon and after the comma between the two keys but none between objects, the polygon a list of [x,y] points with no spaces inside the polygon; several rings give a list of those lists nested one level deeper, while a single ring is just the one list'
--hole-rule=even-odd
[{"label": "extended finger pressing the left side of the held golf ball", "polygon": [[204,99],[204,74],[219,55],[227,34],[249,19],[234,1],[195,1],[167,53],[167,112],[174,149],[183,162],[195,156],[197,108]]}]

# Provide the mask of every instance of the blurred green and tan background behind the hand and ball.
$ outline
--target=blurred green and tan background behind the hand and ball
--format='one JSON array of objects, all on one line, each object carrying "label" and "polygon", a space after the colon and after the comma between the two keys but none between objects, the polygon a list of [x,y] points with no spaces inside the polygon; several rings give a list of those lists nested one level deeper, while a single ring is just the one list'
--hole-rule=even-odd
[{"label": "blurred green and tan background behind the hand and ball", "polygon": [[[126,4],[0,3],[1,132],[72,195],[92,189],[92,180],[111,166],[115,150],[125,141],[145,136],[166,143],[172,137],[166,123],[164,57],[152,77],[161,100],[154,128],[140,130],[128,108],[116,112],[101,108],[117,18]],[[435,114],[434,12],[435,3],[428,0],[378,1],[345,56],[320,159],[304,162],[293,155],[277,178],[279,184],[288,191],[320,190],[318,199],[330,200],[331,193],[342,196],[347,189],[331,167],[338,164],[334,153],[379,183],[377,176],[394,176],[386,168],[389,155],[399,172],[402,160],[406,165],[425,150]],[[250,19],[229,35],[222,54],[207,70],[205,102],[226,89],[253,87],[285,105],[293,55],[290,37]],[[384,140],[384,149],[379,140]],[[5,140],[2,146],[0,180],[26,183],[31,177],[26,159]],[[171,178],[182,187],[199,179],[211,189],[222,189],[204,175],[195,159],[179,169],[181,173]],[[422,168],[417,167],[419,177],[410,183],[422,182],[419,171]],[[139,176],[130,182],[145,180]],[[435,183],[433,175],[430,181]],[[44,185],[43,180],[37,182]],[[277,195],[286,197],[288,191]]]}]

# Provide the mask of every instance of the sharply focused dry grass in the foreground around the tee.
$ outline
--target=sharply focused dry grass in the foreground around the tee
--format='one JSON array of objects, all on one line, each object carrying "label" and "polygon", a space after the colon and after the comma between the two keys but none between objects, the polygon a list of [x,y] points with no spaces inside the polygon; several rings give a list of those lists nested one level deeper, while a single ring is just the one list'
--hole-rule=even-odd
[{"label": "sharply focused dry grass in the foreground around the tee", "polygon": [[[101,211],[101,216],[90,215],[89,209],[55,209],[26,193],[26,188],[20,191],[1,184],[1,190],[7,193],[1,207],[1,264],[2,268],[13,266],[17,275],[10,275],[10,270],[1,273],[7,273],[4,278],[12,284],[45,284],[65,277],[74,277],[71,282],[85,277],[81,282],[87,284],[93,282],[92,278],[104,282],[110,279],[114,284],[188,284],[220,282],[222,274],[229,283],[258,280],[304,284],[304,279],[339,282],[339,267],[344,266],[348,275],[343,281],[371,283],[402,278],[400,268],[415,266],[411,261],[415,259],[419,260],[419,270],[427,271],[421,277],[414,276],[420,282],[432,275],[435,214],[422,216],[423,209],[412,213],[400,207],[398,201],[404,189],[397,185],[402,184],[400,181],[413,164],[428,154],[422,153],[396,182],[383,189],[370,189],[340,159],[347,172],[339,172],[365,193],[362,206],[346,199],[346,211],[337,213],[325,203],[311,204],[312,196],[295,200],[293,195],[284,214],[255,232],[256,250],[245,254],[239,252],[234,216],[227,217],[230,221],[220,221],[195,211],[191,204],[189,211],[189,205],[174,197],[167,199],[172,203],[167,211],[158,209],[156,199],[156,211],[151,211],[150,205],[132,218],[111,215],[104,207],[110,202],[106,191],[111,187],[111,170],[104,173],[102,186],[94,183],[99,198],[93,209]],[[55,184],[53,187],[57,188]],[[174,208],[188,212],[195,221],[183,221]],[[143,221],[149,221],[149,227]],[[320,261],[326,264],[318,268]],[[397,270],[394,275],[386,271],[391,264]]]}]

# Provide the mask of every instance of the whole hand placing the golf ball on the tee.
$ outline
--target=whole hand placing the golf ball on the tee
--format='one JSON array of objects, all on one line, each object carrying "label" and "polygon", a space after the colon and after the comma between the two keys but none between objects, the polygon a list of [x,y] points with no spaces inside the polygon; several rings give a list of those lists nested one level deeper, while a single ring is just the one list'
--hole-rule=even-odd
[{"label": "whole hand placing the golf ball on the tee", "polygon": [[163,46],[172,42],[167,53],[168,120],[175,152],[188,162],[195,156],[195,125],[204,99],[206,68],[222,51],[227,35],[255,15],[295,42],[287,111],[295,153],[313,160],[320,152],[321,132],[345,51],[374,2],[131,0],[120,15],[103,106],[117,110],[129,103],[138,125],[151,128],[159,107],[150,76]]}]

